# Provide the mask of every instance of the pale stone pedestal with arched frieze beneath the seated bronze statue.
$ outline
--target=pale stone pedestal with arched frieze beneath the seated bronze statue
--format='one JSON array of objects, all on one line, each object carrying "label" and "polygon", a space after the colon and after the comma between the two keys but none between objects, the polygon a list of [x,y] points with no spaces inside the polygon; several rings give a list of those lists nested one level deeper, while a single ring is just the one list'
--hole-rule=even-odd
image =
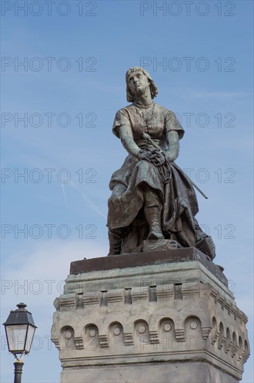
[{"label": "pale stone pedestal with arched frieze beneath the seated bronze statue", "polygon": [[246,315],[197,249],[76,261],[54,304],[62,383],[242,379]]}]

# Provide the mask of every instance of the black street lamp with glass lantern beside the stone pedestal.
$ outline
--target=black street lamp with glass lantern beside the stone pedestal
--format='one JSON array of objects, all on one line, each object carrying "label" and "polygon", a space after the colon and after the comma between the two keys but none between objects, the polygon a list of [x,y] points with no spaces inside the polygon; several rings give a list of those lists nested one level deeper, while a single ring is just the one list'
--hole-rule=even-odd
[{"label": "black street lamp with glass lantern beside the stone pedestal", "polygon": [[[31,350],[35,326],[32,314],[26,310],[26,304],[17,304],[17,310],[10,311],[10,314],[3,326],[6,329],[8,350],[15,356],[14,383],[22,381],[22,357]],[[20,354],[19,358],[17,354]]]}]

